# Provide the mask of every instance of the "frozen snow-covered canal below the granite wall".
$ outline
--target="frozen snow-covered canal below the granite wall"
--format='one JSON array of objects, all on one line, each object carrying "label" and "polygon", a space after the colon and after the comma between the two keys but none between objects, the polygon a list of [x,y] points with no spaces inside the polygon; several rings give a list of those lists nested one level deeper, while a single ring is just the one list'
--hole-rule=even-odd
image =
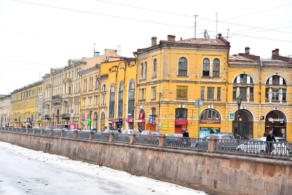
[{"label": "frozen snow-covered canal below the granite wall", "polygon": [[146,177],[0,142],[0,195],[205,195]]}]

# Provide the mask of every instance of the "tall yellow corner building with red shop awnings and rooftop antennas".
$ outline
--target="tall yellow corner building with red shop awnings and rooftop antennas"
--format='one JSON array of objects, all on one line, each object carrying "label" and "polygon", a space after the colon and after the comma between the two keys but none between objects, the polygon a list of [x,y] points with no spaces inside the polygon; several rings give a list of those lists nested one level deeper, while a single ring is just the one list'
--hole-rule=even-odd
[{"label": "tall yellow corner building with red shop awnings and rooftop antennas", "polygon": [[[158,129],[162,134],[182,133],[201,137],[227,123],[225,74],[229,42],[216,39],[151,39],[151,47],[138,49],[137,129]],[[195,100],[202,99],[201,124]],[[154,128],[153,128],[154,126]],[[226,131],[226,129],[224,129]]]}]

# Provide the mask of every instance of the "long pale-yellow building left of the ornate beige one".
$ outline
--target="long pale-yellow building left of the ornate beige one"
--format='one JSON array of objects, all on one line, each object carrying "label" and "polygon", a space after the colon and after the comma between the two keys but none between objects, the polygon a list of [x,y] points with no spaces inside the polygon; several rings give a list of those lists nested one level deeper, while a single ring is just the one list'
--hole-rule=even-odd
[{"label": "long pale-yellow building left of the ornate beige one", "polygon": [[30,125],[38,127],[41,123],[42,104],[39,106],[38,94],[42,92],[43,82],[38,81],[11,93],[10,125]]}]

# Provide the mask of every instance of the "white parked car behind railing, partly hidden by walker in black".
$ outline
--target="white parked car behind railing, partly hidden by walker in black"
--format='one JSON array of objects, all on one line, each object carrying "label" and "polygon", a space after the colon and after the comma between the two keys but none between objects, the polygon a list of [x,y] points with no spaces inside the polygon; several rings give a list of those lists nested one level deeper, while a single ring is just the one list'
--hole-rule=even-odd
[{"label": "white parked car behind railing, partly hidden by walker in black", "polygon": [[[238,145],[237,150],[247,153],[266,153],[267,142],[266,137],[254,138],[247,141],[241,141]],[[272,153],[277,155],[291,154],[292,148],[291,143],[283,137],[275,137],[276,143],[273,143]]]}]

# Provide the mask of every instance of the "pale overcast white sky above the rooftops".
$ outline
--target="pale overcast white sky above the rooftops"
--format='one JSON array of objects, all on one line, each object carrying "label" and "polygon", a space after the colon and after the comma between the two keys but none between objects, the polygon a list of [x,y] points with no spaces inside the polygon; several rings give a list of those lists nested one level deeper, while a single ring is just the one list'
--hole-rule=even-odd
[{"label": "pale overcast white sky above the rooftops", "polygon": [[214,39],[218,13],[218,33],[226,37],[230,29],[231,55],[245,47],[261,58],[275,48],[292,55],[291,10],[291,0],[0,0],[0,94],[68,59],[93,57],[93,43],[101,55],[120,45],[121,56],[133,57],[154,36],[194,38],[194,15],[197,38],[206,29]]}]

